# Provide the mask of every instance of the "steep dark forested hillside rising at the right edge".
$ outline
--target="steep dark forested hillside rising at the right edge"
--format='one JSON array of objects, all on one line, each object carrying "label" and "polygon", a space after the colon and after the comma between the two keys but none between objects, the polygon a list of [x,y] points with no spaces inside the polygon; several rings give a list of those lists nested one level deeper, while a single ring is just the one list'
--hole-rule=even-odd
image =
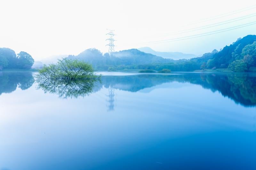
[{"label": "steep dark forested hillside rising at the right edge", "polygon": [[201,64],[201,68],[229,68],[237,72],[254,70],[256,67],[256,35],[237,39],[220,51],[213,50],[190,61]]}]

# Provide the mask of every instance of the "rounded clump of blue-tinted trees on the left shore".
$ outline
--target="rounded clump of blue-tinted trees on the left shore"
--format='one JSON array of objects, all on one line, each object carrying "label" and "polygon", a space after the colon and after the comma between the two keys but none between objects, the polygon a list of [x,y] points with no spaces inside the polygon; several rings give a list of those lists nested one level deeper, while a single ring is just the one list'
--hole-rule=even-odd
[{"label": "rounded clump of blue-tinted trees on the left shore", "polygon": [[30,69],[34,59],[28,53],[21,51],[16,54],[10,48],[0,48],[0,70],[3,69]]}]

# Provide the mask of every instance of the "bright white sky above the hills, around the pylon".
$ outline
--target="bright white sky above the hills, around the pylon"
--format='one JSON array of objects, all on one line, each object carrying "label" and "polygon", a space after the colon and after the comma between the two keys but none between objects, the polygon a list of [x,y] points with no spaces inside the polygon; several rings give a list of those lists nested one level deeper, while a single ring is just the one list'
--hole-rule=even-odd
[{"label": "bright white sky above the hills, around the pylon", "polygon": [[[254,16],[207,29],[173,34],[256,13],[255,0],[1,0],[0,5],[0,47],[12,48],[16,53],[26,51],[37,61],[52,55],[77,55],[87,48],[97,48],[105,53],[108,51],[105,46],[108,43],[105,41],[108,38],[107,28],[114,29],[117,34],[116,51],[148,46],[157,51],[196,55],[223,48],[247,34],[256,34],[256,25],[252,25],[188,40],[141,44],[256,21]],[[230,15],[221,15],[225,13]],[[208,21],[202,22],[205,20]]]}]

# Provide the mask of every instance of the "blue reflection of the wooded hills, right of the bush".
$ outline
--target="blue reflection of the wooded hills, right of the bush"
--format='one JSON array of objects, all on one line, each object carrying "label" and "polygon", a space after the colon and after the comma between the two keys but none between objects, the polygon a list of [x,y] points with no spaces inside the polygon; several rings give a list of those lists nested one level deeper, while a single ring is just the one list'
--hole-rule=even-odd
[{"label": "blue reflection of the wooded hills, right of the bush", "polygon": [[256,106],[256,77],[250,74],[184,73],[175,75],[140,74],[134,76],[103,76],[102,85],[137,92],[141,89],[177,81],[201,85],[219,91],[223,96],[244,106]]}]

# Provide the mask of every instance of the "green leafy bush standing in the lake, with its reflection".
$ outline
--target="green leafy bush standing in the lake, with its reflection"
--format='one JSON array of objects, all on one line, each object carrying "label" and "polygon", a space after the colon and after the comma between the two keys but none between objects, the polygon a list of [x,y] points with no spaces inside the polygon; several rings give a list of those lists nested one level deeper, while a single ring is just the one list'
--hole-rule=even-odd
[{"label": "green leafy bush standing in the lake, with its reflection", "polygon": [[93,92],[96,82],[101,82],[92,65],[83,61],[62,59],[57,64],[44,65],[36,75],[37,88],[59,94],[62,98],[77,98]]}]

